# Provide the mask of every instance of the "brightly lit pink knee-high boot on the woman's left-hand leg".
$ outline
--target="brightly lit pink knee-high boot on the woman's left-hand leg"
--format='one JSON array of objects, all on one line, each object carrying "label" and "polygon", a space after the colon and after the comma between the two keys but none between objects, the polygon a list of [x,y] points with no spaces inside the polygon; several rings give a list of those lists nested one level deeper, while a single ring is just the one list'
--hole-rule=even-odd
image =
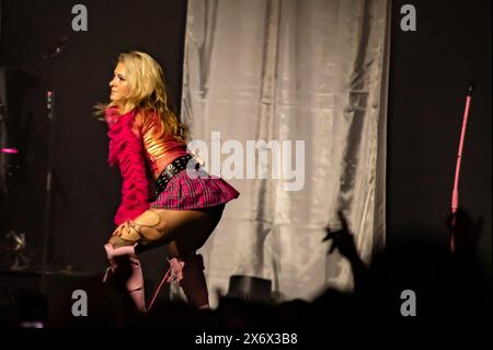
[{"label": "brightly lit pink knee-high boot on the woman's left-hand leg", "polygon": [[134,301],[135,306],[139,312],[145,313],[147,309],[144,294],[142,269],[135,253],[134,246],[115,249],[112,245],[107,244],[104,246],[104,249],[106,250],[110,267],[106,269],[103,282],[106,282],[110,275],[123,272],[122,280],[125,282],[125,287]]}]

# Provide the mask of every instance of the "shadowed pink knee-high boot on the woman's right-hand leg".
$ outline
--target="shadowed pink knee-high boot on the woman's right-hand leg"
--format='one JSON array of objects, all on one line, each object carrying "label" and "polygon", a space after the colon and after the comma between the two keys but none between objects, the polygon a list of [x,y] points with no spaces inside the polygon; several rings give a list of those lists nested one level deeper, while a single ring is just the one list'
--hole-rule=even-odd
[{"label": "shadowed pink knee-high boot on the woman's right-hand leg", "polygon": [[196,253],[182,259],[185,264],[180,286],[183,289],[188,304],[197,308],[209,308],[209,293],[204,275],[204,259]]}]

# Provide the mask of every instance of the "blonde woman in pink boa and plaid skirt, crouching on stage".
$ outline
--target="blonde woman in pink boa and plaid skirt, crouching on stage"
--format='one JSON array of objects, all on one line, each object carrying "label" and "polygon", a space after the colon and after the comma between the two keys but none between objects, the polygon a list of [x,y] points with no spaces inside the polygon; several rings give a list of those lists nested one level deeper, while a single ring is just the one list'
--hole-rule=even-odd
[{"label": "blonde woman in pink boa and plaid skirt, crouching on stage", "polygon": [[204,262],[196,250],[239,192],[209,177],[187,154],[187,131],[170,106],[161,67],[151,56],[121,54],[110,87],[111,102],[99,110],[108,125],[108,162],[119,167],[123,188],[117,228],[104,247],[110,261],[104,280],[129,263],[126,287],[146,312],[137,253],[165,246],[172,272],[168,280],[180,282],[191,305],[207,308]]}]

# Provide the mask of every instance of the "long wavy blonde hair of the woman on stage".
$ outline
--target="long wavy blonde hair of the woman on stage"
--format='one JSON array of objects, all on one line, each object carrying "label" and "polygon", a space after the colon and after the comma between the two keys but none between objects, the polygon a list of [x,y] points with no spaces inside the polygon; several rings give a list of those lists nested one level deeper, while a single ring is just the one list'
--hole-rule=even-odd
[{"label": "long wavy blonde hair of the woman on stage", "polygon": [[[149,113],[157,113],[161,118],[161,135],[186,142],[188,129],[180,122],[172,103],[168,101],[161,66],[148,54],[137,50],[119,54],[118,63],[125,66],[130,86],[130,94],[119,106],[119,112],[125,114],[137,110],[144,124]],[[102,114],[105,109],[114,106],[114,102],[96,105],[96,113]]]}]

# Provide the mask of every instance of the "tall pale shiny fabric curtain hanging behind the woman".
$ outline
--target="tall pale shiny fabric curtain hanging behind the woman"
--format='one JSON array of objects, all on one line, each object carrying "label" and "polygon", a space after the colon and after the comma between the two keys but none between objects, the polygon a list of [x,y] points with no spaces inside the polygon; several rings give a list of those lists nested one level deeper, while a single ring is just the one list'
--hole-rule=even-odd
[{"label": "tall pale shiny fabric curtain hanging behind the woman", "polygon": [[[389,13],[388,0],[188,0],[183,120],[241,192],[200,249],[213,306],[232,274],[272,280],[279,301],[351,290],[322,242],[337,211],[365,261],[383,247]],[[273,144],[252,156],[248,140],[279,142],[280,179]]]}]

